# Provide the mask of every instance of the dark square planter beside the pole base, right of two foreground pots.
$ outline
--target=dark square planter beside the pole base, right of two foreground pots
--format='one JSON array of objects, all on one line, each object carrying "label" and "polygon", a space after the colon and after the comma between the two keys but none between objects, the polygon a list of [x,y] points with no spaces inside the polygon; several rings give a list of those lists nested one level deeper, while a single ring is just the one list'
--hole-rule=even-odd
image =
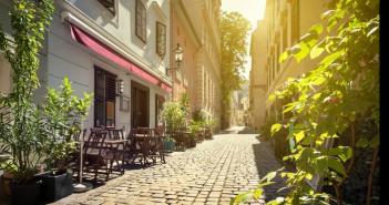
[{"label": "dark square planter beside the pole base, right of two foreground pots", "polygon": [[72,175],[65,171],[55,175],[47,174],[42,181],[44,202],[55,202],[73,193]]}]

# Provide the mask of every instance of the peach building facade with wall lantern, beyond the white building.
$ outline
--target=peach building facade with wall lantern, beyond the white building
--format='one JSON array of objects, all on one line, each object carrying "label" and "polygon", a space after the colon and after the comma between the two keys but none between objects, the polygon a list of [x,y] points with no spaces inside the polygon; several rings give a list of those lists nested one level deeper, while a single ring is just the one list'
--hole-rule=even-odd
[{"label": "peach building facade with wall lantern, beyond the white building", "polygon": [[[203,109],[221,117],[221,0],[171,1],[171,50],[183,48],[183,62],[174,73],[174,99],[186,93],[192,111]],[[171,57],[172,66],[177,66]],[[171,73],[173,74],[173,73]]]}]

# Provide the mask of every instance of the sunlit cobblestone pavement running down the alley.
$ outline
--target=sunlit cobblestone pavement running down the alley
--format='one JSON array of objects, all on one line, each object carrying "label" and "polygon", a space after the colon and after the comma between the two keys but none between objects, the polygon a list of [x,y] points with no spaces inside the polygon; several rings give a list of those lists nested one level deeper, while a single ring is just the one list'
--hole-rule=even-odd
[{"label": "sunlit cobblestone pavement running down the alley", "polygon": [[[127,170],[104,186],[55,204],[228,204],[279,168],[273,153],[255,134],[214,135],[195,148],[170,154],[166,164]],[[275,196],[275,188],[266,189],[266,198]]]}]

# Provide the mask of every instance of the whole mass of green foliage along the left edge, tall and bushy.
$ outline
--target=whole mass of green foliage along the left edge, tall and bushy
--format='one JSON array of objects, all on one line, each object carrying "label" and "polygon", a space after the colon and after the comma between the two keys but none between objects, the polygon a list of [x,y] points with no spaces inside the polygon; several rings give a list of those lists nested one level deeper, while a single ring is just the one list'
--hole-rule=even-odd
[{"label": "whole mass of green foliage along the left edge, tall and bushy", "polygon": [[64,155],[66,142],[58,141],[58,136],[69,134],[70,122],[86,114],[90,99],[62,99],[71,94],[65,80],[62,91],[49,90],[42,109],[33,103],[33,91],[39,88],[38,52],[53,11],[51,0],[14,0],[10,11],[13,39],[8,39],[0,28],[0,50],[12,68],[12,91],[0,98],[0,107],[10,111],[10,117],[0,116],[0,144],[8,145],[12,158],[1,166],[13,172],[19,183],[32,180],[44,158]]}]

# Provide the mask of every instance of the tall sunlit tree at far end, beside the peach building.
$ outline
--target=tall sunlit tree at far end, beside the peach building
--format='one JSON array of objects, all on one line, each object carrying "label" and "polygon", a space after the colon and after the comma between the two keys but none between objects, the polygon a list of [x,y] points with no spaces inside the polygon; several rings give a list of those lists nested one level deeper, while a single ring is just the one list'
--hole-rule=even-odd
[{"label": "tall sunlit tree at far end, beside the peach building", "polygon": [[238,12],[223,12],[222,34],[222,126],[227,127],[231,114],[231,95],[242,83],[247,55],[249,21]]}]

